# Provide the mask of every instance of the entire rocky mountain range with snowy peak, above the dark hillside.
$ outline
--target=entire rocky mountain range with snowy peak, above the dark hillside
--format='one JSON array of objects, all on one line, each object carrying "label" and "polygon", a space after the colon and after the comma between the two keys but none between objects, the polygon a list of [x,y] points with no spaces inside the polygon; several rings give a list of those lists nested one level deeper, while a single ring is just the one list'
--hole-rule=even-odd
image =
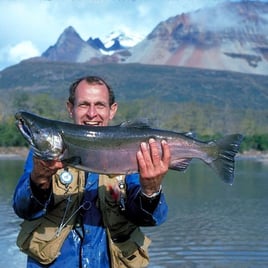
[{"label": "entire rocky mountain range with snowy peak, above the dark hillside", "polygon": [[242,1],[180,14],[146,38],[113,31],[81,39],[68,27],[42,54],[53,61],[143,63],[268,74],[268,2]]}]

